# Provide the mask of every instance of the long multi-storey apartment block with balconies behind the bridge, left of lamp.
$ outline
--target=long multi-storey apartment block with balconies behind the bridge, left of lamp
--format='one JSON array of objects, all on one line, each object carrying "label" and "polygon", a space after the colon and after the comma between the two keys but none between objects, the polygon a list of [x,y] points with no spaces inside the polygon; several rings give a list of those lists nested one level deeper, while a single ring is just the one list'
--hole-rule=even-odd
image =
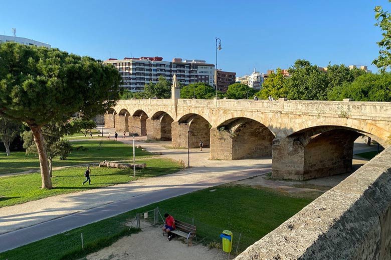
[{"label": "long multi-storey apartment block with balconies behind the bridge, left of lamp", "polygon": [[173,58],[172,61],[164,61],[162,57],[139,57],[123,59],[109,58],[103,64],[112,64],[120,72],[123,80],[122,87],[132,92],[144,90],[146,83],[158,82],[159,76],[171,81],[174,73],[178,82],[188,85],[191,83],[205,82],[213,85],[214,64],[206,63],[202,59],[182,60]]}]

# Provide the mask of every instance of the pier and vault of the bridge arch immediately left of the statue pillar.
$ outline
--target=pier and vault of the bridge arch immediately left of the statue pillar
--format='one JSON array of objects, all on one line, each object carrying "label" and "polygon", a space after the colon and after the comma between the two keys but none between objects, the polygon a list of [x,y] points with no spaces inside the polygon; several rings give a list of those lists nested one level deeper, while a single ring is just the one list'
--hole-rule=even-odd
[{"label": "pier and vault of the bridge arch immediately left of the statue pillar", "polygon": [[147,140],[171,140],[172,117],[164,112],[157,111],[146,120]]}]

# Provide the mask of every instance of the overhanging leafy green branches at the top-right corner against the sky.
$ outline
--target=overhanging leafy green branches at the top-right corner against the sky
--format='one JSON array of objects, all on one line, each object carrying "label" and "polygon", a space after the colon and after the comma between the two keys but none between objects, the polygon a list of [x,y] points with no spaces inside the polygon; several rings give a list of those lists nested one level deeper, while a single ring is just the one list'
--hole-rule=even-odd
[{"label": "overhanging leafy green branches at the top-right corner against the sky", "polygon": [[[391,0],[388,1],[391,2]],[[372,61],[372,64],[376,65],[381,72],[385,72],[387,67],[391,67],[391,15],[381,5],[376,6],[374,11],[377,20],[374,25],[379,26],[383,31],[381,33],[383,38],[376,42],[380,50],[378,57]]]}]

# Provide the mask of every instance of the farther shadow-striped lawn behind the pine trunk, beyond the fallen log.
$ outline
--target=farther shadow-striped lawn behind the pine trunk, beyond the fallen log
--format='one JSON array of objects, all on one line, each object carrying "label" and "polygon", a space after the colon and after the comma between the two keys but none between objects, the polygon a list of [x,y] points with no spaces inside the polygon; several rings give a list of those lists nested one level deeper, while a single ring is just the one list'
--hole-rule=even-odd
[{"label": "farther shadow-striped lawn behind the pine trunk, beyond the fallen log", "polygon": [[[53,159],[53,167],[98,163],[104,160],[132,160],[130,144],[114,140],[72,141],[73,150],[65,160]],[[135,148],[136,157],[153,156],[152,153]],[[13,151],[10,156],[0,153],[0,176],[7,173],[40,170],[38,155],[26,155],[23,151]]]}]

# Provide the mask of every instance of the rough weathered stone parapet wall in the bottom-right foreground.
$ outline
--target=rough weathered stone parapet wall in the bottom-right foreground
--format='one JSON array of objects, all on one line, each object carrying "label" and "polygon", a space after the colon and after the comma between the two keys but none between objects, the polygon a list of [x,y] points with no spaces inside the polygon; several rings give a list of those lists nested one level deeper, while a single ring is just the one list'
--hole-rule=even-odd
[{"label": "rough weathered stone parapet wall in the bottom-right foreground", "polygon": [[390,260],[391,147],[235,259]]}]

